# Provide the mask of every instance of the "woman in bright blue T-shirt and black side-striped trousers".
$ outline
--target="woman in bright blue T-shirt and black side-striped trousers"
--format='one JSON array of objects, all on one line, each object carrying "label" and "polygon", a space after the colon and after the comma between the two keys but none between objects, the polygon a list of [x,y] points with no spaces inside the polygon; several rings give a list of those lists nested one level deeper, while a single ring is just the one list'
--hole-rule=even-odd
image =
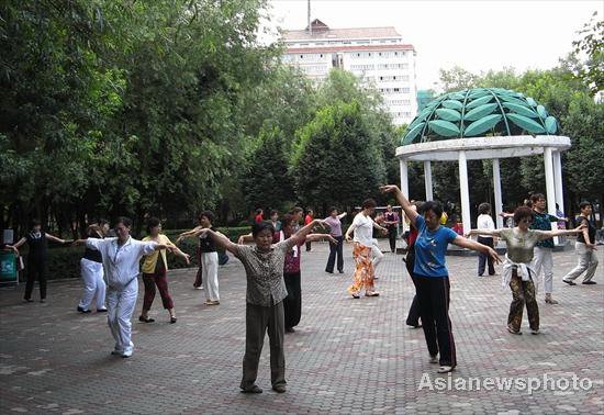
[{"label": "woman in bright blue T-shirt and black side-striped trousers", "polygon": [[[383,193],[393,192],[403,206],[411,223],[417,228],[415,240],[415,266],[413,274],[424,336],[430,356],[430,363],[440,363],[438,373],[447,373],[457,366],[455,340],[449,318],[449,271],[445,254],[449,244],[473,249],[490,255],[494,260],[500,258],[493,248],[457,235],[448,227],[440,225],[443,205],[428,201],[422,205],[423,215],[411,206],[396,186],[384,186]],[[437,358],[437,355],[440,355]]]}]

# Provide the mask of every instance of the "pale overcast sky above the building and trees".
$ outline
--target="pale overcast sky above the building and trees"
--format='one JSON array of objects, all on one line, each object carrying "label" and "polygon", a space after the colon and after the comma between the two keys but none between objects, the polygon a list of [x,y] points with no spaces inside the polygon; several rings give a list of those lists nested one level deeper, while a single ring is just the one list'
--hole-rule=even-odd
[{"label": "pale overcast sky above the building and trees", "polygon": [[[306,0],[271,0],[272,24],[306,27]],[[311,19],[329,27],[394,26],[417,51],[417,87],[434,88],[438,69],[548,69],[572,49],[599,1],[311,0]]]}]

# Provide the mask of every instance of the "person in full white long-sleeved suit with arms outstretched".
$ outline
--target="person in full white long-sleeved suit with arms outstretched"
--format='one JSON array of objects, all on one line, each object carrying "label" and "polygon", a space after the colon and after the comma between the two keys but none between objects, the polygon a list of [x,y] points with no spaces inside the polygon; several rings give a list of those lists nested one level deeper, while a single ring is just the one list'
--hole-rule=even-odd
[{"label": "person in full white long-sleeved suit with arms outstretched", "polygon": [[132,313],[138,295],[139,261],[144,255],[154,250],[167,249],[171,246],[154,242],[144,243],[130,236],[132,222],[120,217],[115,224],[115,238],[78,239],[76,245],[99,250],[103,257],[103,269],[108,282],[108,324],[115,339],[112,355],[131,357],[134,344],[131,339]]}]

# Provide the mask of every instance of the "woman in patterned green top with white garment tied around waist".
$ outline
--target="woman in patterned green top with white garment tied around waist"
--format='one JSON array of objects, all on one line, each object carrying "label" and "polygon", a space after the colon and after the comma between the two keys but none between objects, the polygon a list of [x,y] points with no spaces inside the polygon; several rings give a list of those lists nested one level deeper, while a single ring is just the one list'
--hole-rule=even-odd
[{"label": "woman in patterned green top with white garment tied around waist", "polygon": [[514,212],[513,228],[505,229],[471,229],[467,235],[491,235],[501,237],[507,245],[507,254],[503,263],[502,283],[512,290],[512,304],[507,316],[507,330],[519,335],[523,321],[523,310],[526,304],[530,333],[539,333],[539,306],[536,300],[538,277],[533,270],[532,261],[535,245],[540,240],[560,235],[575,235],[581,226],[571,229],[538,231],[532,229],[533,210],[521,206]]}]

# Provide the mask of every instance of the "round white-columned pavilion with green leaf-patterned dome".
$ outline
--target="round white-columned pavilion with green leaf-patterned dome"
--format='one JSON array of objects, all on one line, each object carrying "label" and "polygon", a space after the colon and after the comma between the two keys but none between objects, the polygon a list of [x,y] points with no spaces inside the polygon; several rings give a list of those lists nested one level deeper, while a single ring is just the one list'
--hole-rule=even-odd
[{"label": "round white-columned pavilion with green leaf-patterned dome", "polygon": [[493,162],[494,210],[503,227],[500,159],[544,155],[548,213],[563,206],[560,153],[570,138],[556,135],[558,122],[534,99],[502,88],[474,88],[445,93],[417,114],[396,148],[401,189],[409,197],[410,161],[424,164],[426,200],[433,199],[432,161],[459,164],[463,229],[471,228],[468,160]]}]

